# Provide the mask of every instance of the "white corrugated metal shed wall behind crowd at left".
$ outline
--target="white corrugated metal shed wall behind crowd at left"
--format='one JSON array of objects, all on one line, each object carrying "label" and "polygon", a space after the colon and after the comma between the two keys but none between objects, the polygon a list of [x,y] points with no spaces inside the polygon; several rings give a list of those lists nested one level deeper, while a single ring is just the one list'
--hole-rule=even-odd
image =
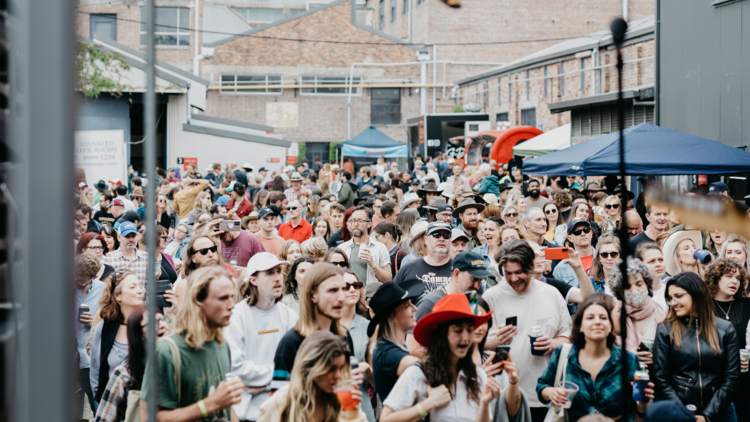
[{"label": "white corrugated metal shed wall behind crowd at left", "polygon": [[[198,169],[202,172],[213,163],[226,164],[228,161],[239,165],[251,163],[256,170],[266,167],[271,171],[280,169],[285,163],[286,148],[283,147],[183,131],[182,125],[187,123],[186,101],[184,95],[169,96],[167,163],[170,167],[177,166],[177,157],[197,157]],[[279,162],[270,163],[269,158],[278,158]]]}]

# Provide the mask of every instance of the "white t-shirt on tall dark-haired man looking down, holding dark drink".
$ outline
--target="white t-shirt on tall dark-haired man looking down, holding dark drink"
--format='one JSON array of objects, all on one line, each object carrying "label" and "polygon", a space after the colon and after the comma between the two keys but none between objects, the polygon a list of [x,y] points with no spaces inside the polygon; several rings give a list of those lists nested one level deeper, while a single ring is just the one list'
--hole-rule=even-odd
[{"label": "white t-shirt on tall dark-haired man looking down, holding dark drink", "polygon": [[518,333],[510,345],[510,355],[516,363],[519,387],[527,392],[530,407],[544,407],[537,398],[536,385],[549,364],[549,356],[531,354],[529,332],[538,325],[542,333],[549,337],[568,337],[571,319],[565,299],[554,287],[533,282],[530,292],[519,294],[505,280],[487,290],[482,298],[492,309],[492,327],[505,325],[505,319],[518,318]]}]

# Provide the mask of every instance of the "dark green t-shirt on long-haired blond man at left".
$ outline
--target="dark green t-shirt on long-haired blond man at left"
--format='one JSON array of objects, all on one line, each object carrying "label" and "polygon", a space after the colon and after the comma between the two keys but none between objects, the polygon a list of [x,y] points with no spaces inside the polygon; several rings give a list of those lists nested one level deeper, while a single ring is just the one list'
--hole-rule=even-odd
[{"label": "dark green t-shirt on long-haired blond man at left", "polygon": [[[182,374],[180,385],[174,378],[174,364],[169,344],[156,342],[156,356],[159,364],[159,406],[164,409],[180,409],[204,400],[216,391],[224,374],[232,370],[229,345],[219,344],[216,339],[205,343],[200,349],[193,349],[185,343],[181,334],[171,334],[180,350]],[[180,399],[177,400],[177,389]],[[148,371],[143,375],[141,399],[148,399]],[[229,421],[230,408],[208,415],[202,421]]]}]

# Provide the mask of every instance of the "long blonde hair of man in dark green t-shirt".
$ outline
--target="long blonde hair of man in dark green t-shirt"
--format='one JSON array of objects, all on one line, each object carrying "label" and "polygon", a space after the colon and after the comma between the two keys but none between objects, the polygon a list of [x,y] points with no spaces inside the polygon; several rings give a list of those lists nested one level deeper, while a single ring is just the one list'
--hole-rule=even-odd
[{"label": "long blonde hair of man in dark green t-shirt", "polygon": [[211,283],[222,277],[232,280],[229,271],[218,265],[211,265],[197,269],[187,278],[188,297],[177,313],[174,332],[184,333],[185,343],[193,349],[200,349],[212,334],[219,344],[224,343],[221,327],[210,328],[200,307],[200,303],[208,296]]}]

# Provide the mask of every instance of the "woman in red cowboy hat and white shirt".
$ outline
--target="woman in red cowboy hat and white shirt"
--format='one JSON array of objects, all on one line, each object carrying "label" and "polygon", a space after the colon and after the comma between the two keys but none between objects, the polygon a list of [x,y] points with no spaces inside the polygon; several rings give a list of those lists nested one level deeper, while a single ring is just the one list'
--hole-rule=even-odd
[{"label": "woman in red cowboy hat and white shirt", "polygon": [[[436,303],[414,328],[414,338],[427,347],[427,356],[401,374],[383,402],[380,421],[416,422],[429,414],[430,422],[489,422],[496,411],[503,411],[490,410],[500,396],[500,383],[472,359],[474,327],[491,317],[492,312],[472,312],[469,299],[460,293]],[[506,408],[507,400],[497,404]]]}]

